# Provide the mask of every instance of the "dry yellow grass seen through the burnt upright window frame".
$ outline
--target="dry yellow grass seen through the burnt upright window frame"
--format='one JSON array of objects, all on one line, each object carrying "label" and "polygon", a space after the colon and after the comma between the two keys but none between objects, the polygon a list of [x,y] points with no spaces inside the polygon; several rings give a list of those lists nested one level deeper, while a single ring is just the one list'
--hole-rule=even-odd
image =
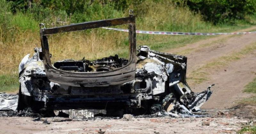
[{"label": "dry yellow grass seen through the burnt upright window frame", "polygon": [[[121,34],[121,35],[120,35]],[[84,32],[64,33],[48,39],[52,61],[63,59],[88,60],[118,54],[128,58],[128,33],[116,31],[106,32],[105,29]]]}]

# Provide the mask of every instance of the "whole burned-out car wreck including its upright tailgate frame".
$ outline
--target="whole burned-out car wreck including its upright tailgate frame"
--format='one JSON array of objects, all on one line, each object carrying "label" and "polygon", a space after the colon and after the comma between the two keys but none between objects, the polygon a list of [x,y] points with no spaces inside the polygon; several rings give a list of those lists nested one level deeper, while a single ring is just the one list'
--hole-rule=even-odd
[{"label": "whole burned-out car wreck including its upright tailgate frame", "polygon": [[[51,63],[47,36],[60,32],[127,24],[129,59],[109,56],[89,61],[65,59]],[[86,110],[93,115],[193,115],[212,94],[210,87],[194,93],[186,82],[187,57],[139,46],[135,16],[45,28],[41,46],[19,66],[17,110],[30,107],[42,115]],[[72,113],[74,116],[74,112]]]}]

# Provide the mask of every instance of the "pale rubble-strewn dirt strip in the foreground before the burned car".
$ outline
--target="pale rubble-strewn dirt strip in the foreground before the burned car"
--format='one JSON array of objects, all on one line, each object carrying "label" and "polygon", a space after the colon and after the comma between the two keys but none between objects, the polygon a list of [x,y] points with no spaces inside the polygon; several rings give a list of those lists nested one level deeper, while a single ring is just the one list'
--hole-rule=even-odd
[{"label": "pale rubble-strewn dirt strip in the foreground before the burned car", "polygon": [[[134,118],[132,121],[121,119],[96,119],[94,121],[58,122],[48,118],[50,124],[32,121],[29,117],[0,118],[1,133],[101,133],[105,134],[170,134],[170,133],[234,133],[246,119],[237,118]],[[202,122],[210,123],[209,126]],[[101,129],[101,132],[100,132]]]}]

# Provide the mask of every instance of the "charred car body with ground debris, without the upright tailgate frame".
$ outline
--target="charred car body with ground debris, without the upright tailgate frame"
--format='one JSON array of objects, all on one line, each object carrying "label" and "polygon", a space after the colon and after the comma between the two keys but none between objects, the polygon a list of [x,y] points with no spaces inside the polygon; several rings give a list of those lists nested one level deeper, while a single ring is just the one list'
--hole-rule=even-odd
[{"label": "charred car body with ground debris, without the upright tailgate frame", "polygon": [[[41,116],[64,115],[72,119],[95,116],[122,117],[124,114],[133,114],[136,117],[201,117],[202,115],[194,113],[200,112],[200,107],[211,96],[211,86],[200,93],[194,93],[190,89],[186,82],[187,57],[157,52],[147,46],[140,46],[137,51],[136,72],[132,81],[117,86],[97,87],[95,90],[96,88],[65,86],[49,81],[39,58],[42,50],[36,48],[35,55],[26,61],[23,59],[23,66],[19,68],[22,97],[19,98],[18,94],[1,93],[0,113],[2,116],[38,116],[37,113],[40,113]],[[64,63],[68,64],[69,68],[62,67]],[[74,69],[70,63],[70,60],[63,60],[54,66],[60,69]],[[83,58],[79,66],[76,63],[75,69],[78,72],[112,71],[127,63],[127,59],[117,55],[95,61]],[[29,96],[29,101],[40,102],[40,108],[34,110],[35,106],[27,106],[32,109],[20,110],[18,100],[23,99],[19,102],[23,107],[24,101],[29,103],[24,100],[24,96]],[[50,100],[54,101],[50,103]],[[55,107],[58,106],[55,103],[64,105]],[[47,109],[49,107],[51,109]]]}]

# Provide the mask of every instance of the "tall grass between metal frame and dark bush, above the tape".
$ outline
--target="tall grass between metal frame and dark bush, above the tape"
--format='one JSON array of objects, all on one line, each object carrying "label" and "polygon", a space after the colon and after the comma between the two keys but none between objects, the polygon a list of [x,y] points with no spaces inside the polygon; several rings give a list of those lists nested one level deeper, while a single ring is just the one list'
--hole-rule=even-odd
[{"label": "tall grass between metal frame and dark bush, above the tape", "polygon": [[144,30],[203,32],[212,26],[202,21],[201,15],[191,12],[187,7],[176,6],[172,2],[155,4],[148,1],[140,6],[147,7],[146,13],[139,15],[137,21],[137,26]]}]

